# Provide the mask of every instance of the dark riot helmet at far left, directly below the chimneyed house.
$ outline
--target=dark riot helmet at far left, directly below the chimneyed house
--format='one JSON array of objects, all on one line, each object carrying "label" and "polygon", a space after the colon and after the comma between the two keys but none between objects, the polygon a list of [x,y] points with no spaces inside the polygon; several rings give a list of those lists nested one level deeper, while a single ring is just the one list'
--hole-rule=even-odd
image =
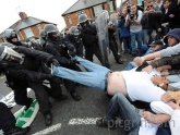
[{"label": "dark riot helmet at far left, directly below the chimneyed house", "polygon": [[[13,41],[12,41],[12,39],[13,38],[16,38],[17,39],[17,35],[16,35],[16,33],[15,33],[15,30],[14,29],[5,29],[4,32],[3,32],[3,37],[4,37],[4,39],[8,41],[8,42],[11,42],[11,44],[14,44]],[[19,41],[19,40],[17,40]]]}]

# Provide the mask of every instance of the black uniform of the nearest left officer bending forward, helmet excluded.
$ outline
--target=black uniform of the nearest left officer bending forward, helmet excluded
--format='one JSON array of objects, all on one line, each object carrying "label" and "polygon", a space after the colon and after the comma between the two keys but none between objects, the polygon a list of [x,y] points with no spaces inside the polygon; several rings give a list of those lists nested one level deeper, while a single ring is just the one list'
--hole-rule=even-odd
[{"label": "black uniform of the nearest left officer bending forward, helmet excluded", "polygon": [[[50,105],[48,100],[49,97],[44,89],[43,81],[49,79],[50,82],[52,82],[53,85],[51,85],[51,94],[53,98],[58,98],[58,96],[61,95],[61,89],[60,86],[53,82],[56,77],[52,77],[52,75],[43,71],[40,61],[50,62],[52,61],[53,57],[49,53],[21,46],[19,46],[15,51],[24,54],[24,62],[22,64],[8,63],[4,69],[5,75],[8,76],[8,78],[10,78],[10,84],[14,83],[13,90],[15,91],[15,100],[20,105],[24,105],[23,101],[25,100],[28,102],[28,99],[26,99],[25,96],[25,90],[27,87],[31,87],[35,91],[40,112],[46,113],[50,111]],[[22,85],[22,83],[24,84]],[[24,87],[22,87],[22,93],[17,90],[17,88],[20,88],[20,85],[17,84],[21,84]]]}]

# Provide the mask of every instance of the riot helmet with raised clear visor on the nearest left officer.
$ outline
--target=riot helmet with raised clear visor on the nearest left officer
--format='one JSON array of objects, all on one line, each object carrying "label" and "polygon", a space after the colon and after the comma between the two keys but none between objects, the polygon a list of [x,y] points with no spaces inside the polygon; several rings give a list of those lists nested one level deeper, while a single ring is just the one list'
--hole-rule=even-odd
[{"label": "riot helmet with raised clear visor on the nearest left officer", "polygon": [[16,47],[9,42],[0,44],[0,62],[22,64],[23,57],[17,53],[14,48]]}]

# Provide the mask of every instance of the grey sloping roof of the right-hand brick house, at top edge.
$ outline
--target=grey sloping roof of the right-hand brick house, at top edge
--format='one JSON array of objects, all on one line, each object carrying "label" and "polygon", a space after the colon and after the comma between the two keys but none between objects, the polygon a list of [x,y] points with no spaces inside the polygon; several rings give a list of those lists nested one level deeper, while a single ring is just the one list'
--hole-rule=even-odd
[{"label": "grey sloping roof of the right-hand brick house, at top edge", "polygon": [[79,11],[79,10],[83,10],[83,9],[94,7],[94,5],[99,4],[99,3],[104,3],[104,2],[107,2],[107,0],[79,0],[71,8],[69,8],[62,14],[62,16],[64,16],[65,14]]}]

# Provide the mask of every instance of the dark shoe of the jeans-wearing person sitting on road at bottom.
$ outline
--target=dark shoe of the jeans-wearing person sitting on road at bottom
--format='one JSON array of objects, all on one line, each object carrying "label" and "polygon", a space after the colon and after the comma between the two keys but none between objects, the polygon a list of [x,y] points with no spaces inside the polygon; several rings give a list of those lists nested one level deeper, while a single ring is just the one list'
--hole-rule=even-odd
[{"label": "dark shoe of the jeans-wearing person sitting on road at bottom", "polygon": [[116,128],[116,122],[115,121],[107,121],[103,118],[96,121],[96,125],[98,127],[108,127],[109,130]]}]

